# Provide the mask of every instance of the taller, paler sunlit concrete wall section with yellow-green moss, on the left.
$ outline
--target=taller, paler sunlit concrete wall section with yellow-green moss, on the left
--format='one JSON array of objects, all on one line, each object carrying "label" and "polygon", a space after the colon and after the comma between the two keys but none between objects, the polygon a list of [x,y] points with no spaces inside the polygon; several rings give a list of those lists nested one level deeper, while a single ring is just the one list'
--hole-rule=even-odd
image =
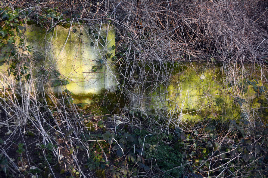
[{"label": "taller, paler sunlit concrete wall section with yellow-green moss, on the left", "polygon": [[[115,55],[115,30],[112,26],[95,26],[89,34],[89,26],[73,25],[71,28],[56,26],[45,32],[34,25],[26,28],[26,43],[33,46],[36,52],[45,56],[35,65],[43,70],[58,71],[60,78],[67,79],[69,84],[56,86],[52,90],[61,92],[65,89],[74,95],[98,94],[102,89],[114,92],[117,83],[114,68],[110,65]],[[96,36],[98,34],[98,36]],[[110,57],[107,57],[107,54]],[[53,73],[53,72],[52,72]],[[54,75],[50,76],[51,86]]]}]

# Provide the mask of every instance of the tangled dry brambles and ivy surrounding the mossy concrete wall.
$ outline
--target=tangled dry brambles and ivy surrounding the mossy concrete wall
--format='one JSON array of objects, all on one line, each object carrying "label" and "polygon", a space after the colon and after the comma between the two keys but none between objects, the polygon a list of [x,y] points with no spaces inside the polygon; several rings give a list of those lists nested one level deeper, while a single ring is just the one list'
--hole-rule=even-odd
[{"label": "tangled dry brambles and ivy surrounding the mossy concrete wall", "polygon": [[[267,0],[2,0],[0,6],[13,11],[19,9],[17,12],[25,16],[21,19],[28,19],[48,31],[56,25],[70,23],[70,20],[90,26],[111,23],[117,33],[117,58],[109,64],[118,69],[116,95],[118,98],[134,96],[140,101],[140,107],[144,102],[146,104],[150,92],[168,85],[172,71],[180,62],[220,62],[226,78],[238,85],[237,88],[240,86],[236,81],[244,74],[243,65],[258,64],[260,83],[267,84]],[[50,9],[49,12],[46,9]],[[53,14],[57,14],[56,17]],[[41,16],[47,18],[40,21]],[[0,21],[1,28],[7,25],[3,19]],[[10,57],[25,55],[20,54],[20,50],[17,53],[19,55]],[[23,62],[27,61],[12,66],[12,70],[21,75],[19,80],[22,76],[27,78],[19,71],[25,69],[21,67]],[[29,74],[33,68],[28,66]],[[33,86],[33,80],[30,77],[25,81],[28,86]],[[105,102],[111,103],[107,98],[99,99],[96,102],[99,106],[86,113],[70,103],[70,92],[63,92],[57,100],[52,92],[23,91],[17,82],[9,84],[10,88],[0,93],[1,135],[7,133],[7,140],[0,138],[1,176],[8,176],[7,170],[11,176],[22,176],[27,170],[23,165],[39,165],[33,160],[40,157],[39,161],[46,166],[32,170],[28,167],[29,175],[40,175],[40,169],[43,177],[48,176],[48,172],[54,177],[65,174],[77,177],[105,174],[113,177],[121,174],[129,177],[134,174],[144,177],[250,177],[267,173],[267,129],[254,118],[250,123],[241,120],[240,124],[206,118],[209,121],[175,125],[170,124],[167,113],[158,113],[159,119],[160,116],[164,118],[159,122],[153,118],[155,116],[146,116],[146,113],[131,113],[131,103],[119,103],[117,106],[123,107],[116,110],[117,113],[102,113],[108,115],[104,121],[100,119],[107,116],[100,116],[98,108]],[[251,117],[257,118],[255,115]],[[104,124],[108,131],[96,134],[95,128],[100,131]],[[148,132],[143,127],[147,127]],[[32,137],[36,145],[32,144]],[[17,144],[16,139],[21,143]],[[136,152],[135,146],[132,152],[133,145],[136,145]],[[12,159],[13,147],[19,155],[18,160]],[[37,156],[34,149],[39,151]],[[126,154],[122,155],[121,150]],[[176,156],[170,158],[170,162],[163,161],[174,152]],[[111,165],[108,159],[112,160]]]}]

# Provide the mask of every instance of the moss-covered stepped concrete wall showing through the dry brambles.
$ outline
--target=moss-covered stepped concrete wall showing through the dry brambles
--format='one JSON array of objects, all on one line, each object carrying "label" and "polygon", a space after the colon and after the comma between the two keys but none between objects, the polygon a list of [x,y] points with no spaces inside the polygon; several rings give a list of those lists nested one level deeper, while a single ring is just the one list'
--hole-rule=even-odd
[{"label": "moss-covered stepped concrete wall showing through the dry brambles", "polygon": [[[35,25],[26,26],[26,45],[33,47],[30,54],[35,61],[32,65],[37,90],[45,88],[61,93],[67,89],[73,92],[75,103],[92,103],[95,96],[101,98],[103,93],[116,90],[116,75],[111,65],[115,55],[115,30],[109,25],[93,28],[92,33],[91,27],[80,24],[55,26],[49,31]],[[6,77],[0,79],[2,87],[6,80],[15,80],[8,75],[7,65],[1,65],[0,70]],[[137,98],[140,93],[130,96],[130,105],[126,107],[149,115],[165,110],[185,120],[234,119],[253,112],[267,119],[268,102],[264,97],[261,70],[258,66],[244,65],[234,71],[232,75],[216,64],[180,63],[167,86],[161,85],[154,91],[148,89],[145,97]],[[45,74],[47,82],[43,85]],[[69,84],[55,86],[58,79],[67,80]]]}]

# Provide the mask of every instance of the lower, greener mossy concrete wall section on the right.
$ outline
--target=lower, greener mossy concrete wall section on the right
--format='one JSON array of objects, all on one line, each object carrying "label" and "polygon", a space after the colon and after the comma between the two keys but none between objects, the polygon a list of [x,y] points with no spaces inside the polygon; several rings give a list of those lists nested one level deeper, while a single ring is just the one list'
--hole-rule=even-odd
[{"label": "lower, greener mossy concrete wall section on the right", "polygon": [[[254,67],[253,67],[254,68]],[[132,95],[136,109],[148,115],[163,113],[175,115],[182,120],[240,118],[258,112],[260,100],[264,99],[260,88],[260,74],[250,65],[237,70],[237,76],[228,76],[222,66],[184,63],[174,69],[168,86],[161,86],[141,100]],[[258,77],[259,76],[259,77]],[[237,80],[236,80],[237,79]],[[257,89],[250,84],[257,80]],[[132,103],[132,102],[130,102]],[[264,113],[262,113],[265,119]]]}]

